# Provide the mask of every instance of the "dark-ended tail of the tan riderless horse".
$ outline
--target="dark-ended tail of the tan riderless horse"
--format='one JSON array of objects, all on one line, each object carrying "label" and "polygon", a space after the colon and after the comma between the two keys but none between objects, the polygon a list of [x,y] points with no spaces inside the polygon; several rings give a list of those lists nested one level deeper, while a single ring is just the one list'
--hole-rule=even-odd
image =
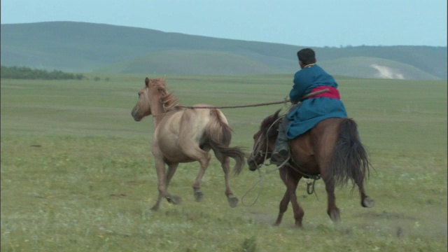
[{"label": "dark-ended tail of the tan riderless horse", "polygon": [[239,174],[244,167],[245,153],[241,147],[229,147],[232,140],[232,129],[221,118],[218,109],[212,109],[211,120],[205,129],[205,134],[209,139],[209,145],[215,153],[233,158],[235,160],[234,174]]}]

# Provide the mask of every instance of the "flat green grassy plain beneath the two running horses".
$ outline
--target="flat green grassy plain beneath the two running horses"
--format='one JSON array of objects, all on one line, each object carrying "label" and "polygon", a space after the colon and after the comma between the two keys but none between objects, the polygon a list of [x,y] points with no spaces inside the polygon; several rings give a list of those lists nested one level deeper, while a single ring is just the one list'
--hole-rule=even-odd
[{"label": "flat green grassy plain beneath the two running horses", "polygon": [[[240,204],[230,209],[216,159],[202,202],[191,188],[194,162],[180,165],[170,185],[183,202],[151,211],[153,120],[130,116],[145,76],[90,77],[1,80],[1,251],[447,251],[447,81],[337,78],[371,155],[366,190],[376,205],[363,209],[356,190],[338,188],[342,222],[334,225],[323,182],[317,197],[302,182],[297,229],[292,209],[272,226],[285,188],[267,172],[273,167],[250,192],[256,172],[233,177]],[[183,105],[228,106],[281,101],[291,80],[167,76],[167,85]],[[282,108],[223,109],[232,146],[250,151],[262,118]]]}]

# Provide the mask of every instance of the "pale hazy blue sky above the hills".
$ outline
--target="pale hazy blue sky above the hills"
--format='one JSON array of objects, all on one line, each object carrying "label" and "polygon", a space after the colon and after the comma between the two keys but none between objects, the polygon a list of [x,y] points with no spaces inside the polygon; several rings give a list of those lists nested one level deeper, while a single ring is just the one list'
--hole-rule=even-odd
[{"label": "pale hazy blue sky above the hills", "polygon": [[93,22],[307,46],[447,46],[447,0],[1,0],[1,24]]}]

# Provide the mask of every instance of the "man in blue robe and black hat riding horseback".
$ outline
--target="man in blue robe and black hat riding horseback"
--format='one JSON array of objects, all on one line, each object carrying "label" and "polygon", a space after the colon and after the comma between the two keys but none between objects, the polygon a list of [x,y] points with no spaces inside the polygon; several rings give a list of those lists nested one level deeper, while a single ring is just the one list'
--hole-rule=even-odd
[{"label": "man in blue robe and black hat riding horseback", "polygon": [[[281,165],[289,157],[288,139],[311,130],[318,122],[327,118],[346,118],[344,104],[339,99],[335,78],[316,64],[316,54],[311,48],[297,52],[300,70],[294,75],[294,85],[289,97],[293,106],[283,117],[279,126],[271,163]],[[305,94],[327,89],[328,92],[316,94],[300,101]]]}]

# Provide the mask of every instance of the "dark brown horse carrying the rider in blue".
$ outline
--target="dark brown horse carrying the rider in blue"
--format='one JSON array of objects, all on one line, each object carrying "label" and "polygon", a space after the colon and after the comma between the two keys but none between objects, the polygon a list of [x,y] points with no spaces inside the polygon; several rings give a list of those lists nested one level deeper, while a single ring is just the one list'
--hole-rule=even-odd
[{"label": "dark brown horse carrying the rider in blue", "polygon": [[[248,165],[254,171],[270,158],[281,118],[279,111],[262,121],[260,130],[253,136],[254,146]],[[370,162],[365,148],[360,143],[356,123],[349,118],[328,118],[314,128],[289,141],[290,160],[279,167],[280,177],[286,185],[286,193],[280,202],[279,216],[274,225],[293,205],[295,225],[302,227],[304,211],[297,203],[295,190],[302,177],[321,176],[328,195],[327,214],[334,222],[339,221],[339,209],[335,203],[335,186],[346,185],[349,180],[353,188],[358,185],[361,205],[373,207],[374,201],[364,192],[363,182],[369,174]]]}]

